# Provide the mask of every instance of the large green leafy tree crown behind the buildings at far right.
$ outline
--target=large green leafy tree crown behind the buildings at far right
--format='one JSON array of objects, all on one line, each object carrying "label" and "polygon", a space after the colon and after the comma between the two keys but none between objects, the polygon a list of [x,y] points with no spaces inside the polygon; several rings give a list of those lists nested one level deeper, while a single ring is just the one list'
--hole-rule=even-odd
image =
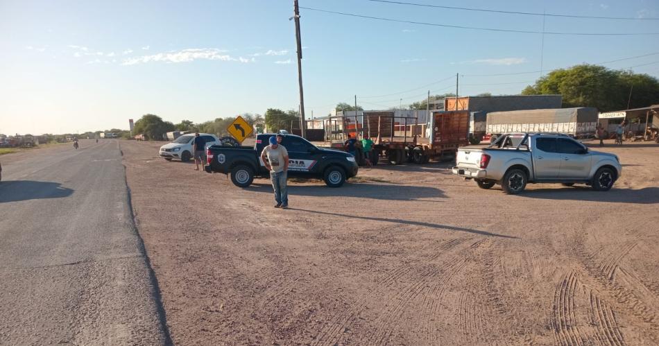
[{"label": "large green leafy tree crown behind the buildings at far right", "polygon": [[631,108],[659,103],[657,78],[590,64],[551,71],[535,85],[524,88],[522,94],[560,94],[563,107],[596,107],[600,112],[609,112],[627,108],[632,88]]}]

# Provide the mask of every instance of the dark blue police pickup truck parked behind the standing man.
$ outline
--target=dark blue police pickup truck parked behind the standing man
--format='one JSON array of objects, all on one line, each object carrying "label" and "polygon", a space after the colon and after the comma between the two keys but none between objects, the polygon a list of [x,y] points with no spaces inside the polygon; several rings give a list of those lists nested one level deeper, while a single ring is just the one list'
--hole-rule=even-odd
[{"label": "dark blue police pickup truck parked behind the standing man", "polygon": [[[277,134],[259,134],[251,146],[209,146],[206,152],[208,173],[225,173],[237,187],[248,187],[256,176],[269,178],[261,153],[270,137]],[[346,179],[357,175],[354,157],[340,150],[318,148],[306,139],[283,134],[282,146],[289,153],[289,176],[321,178],[328,187],[341,187]]]}]

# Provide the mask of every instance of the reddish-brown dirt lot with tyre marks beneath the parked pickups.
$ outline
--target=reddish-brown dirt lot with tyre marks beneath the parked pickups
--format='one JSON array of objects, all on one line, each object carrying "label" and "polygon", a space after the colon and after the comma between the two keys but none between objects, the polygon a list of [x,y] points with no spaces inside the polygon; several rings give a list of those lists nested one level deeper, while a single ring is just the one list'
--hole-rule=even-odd
[{"label": "reddish-brown dirt lot with tyre marks beneath the parked pickups", "polygon": [[658,345],[659,147],[608,192],[479,189],[450,163],[248,189],[122,142],[178,345]]}]

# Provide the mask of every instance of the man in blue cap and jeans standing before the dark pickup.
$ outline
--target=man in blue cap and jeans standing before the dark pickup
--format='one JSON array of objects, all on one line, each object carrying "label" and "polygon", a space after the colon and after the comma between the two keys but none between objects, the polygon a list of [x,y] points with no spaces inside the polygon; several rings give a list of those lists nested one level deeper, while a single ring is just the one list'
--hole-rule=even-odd
[{"label": "man in blue cap and jeans standing before the dark pickup", "polygon": [[288,209],[289,193],[286,191],[286,179],[289,171],[289,152],[281,144],[277,144],[275,137],[268,140],[269,146],[263,148],[261,160],[270,171],[270,180],[275,191],[275,208]]}]

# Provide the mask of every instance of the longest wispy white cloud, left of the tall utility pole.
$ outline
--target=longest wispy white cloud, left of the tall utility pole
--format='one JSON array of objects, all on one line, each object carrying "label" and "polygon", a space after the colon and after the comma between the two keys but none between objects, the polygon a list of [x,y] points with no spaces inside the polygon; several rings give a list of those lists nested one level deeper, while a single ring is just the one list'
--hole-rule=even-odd
[{"label": "longest wispy white cloud, left of the tall utility pole", "polygon": [[136,58],[124,59],[122,65],[135,65],[145,64],[146,62],[191,62],[194,60],[221,60],[221,61],[237,61],[237,62],[250,62],[243,57],[233,57],[228,54],[222,54],[225,51],[214,48],[202,49],[183,49],[182,51],[169,51],[167,53],[157,53],[153,55],[142,55]]}]

